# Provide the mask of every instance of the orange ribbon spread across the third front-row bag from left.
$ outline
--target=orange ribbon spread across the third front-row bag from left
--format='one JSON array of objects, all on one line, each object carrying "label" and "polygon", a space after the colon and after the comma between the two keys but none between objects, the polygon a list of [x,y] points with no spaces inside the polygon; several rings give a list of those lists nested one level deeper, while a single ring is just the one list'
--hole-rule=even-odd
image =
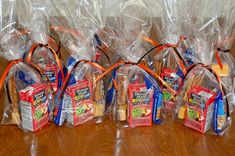
[{"label": "orange ribbon spread across the third front-row bag from left", "polygon": [[103,74],[101,74],[96,80],[100,80],[102,79],[105,75],[107,75],[108,73],[110,73],[111,71],[113,71],[115,68],[120,67],[121,65],[127,65],[127,64],[131,64],[131,65],[137,65],[138,67],[140,67],[141,69],[143,69],[144,71],[146,71],[147,73],[149,73],[150,75],[152,75],[153,77],[155,77],[156,79],[158,79],[162,85],[164,85],[166,88],[168,88],[170,90],[170,92],[173,93],[173,95],[176,95],[176,92],[159,76],[157,75],[154,71],[152,71],[151,69],[149,69],[147,66],[145,66],[144,64],[141,63],[133,63],[133,62],[128,62],[128,61],[120,61],[117,62],[115,64],[113,64],[109,69],[107,69]]}]

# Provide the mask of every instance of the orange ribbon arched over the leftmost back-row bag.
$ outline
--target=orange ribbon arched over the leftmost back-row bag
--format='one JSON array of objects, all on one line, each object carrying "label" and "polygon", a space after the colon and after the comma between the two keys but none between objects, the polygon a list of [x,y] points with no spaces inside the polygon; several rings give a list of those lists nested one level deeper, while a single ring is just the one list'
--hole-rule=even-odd
[{"label": "orange ribbon arched over the leftmost back-row bag", "polygon": [[[28,53],[28,56],[26,58],[26,61],[31,63],[31,59],[32,59],[33,53],[36,50],[36,48],[38,48],[39,46],[45,47],[45,48],[49,49],[52,52],[52,54],[53,54],[53,56],[55,58],[55,61],[56,61],[57,65],[58,65],[58,67],[59,67],[59,70],[61,72],[62,81],[64,81],[65,78],[64,78],[63,65],[61,64],[60,59],[58,58],[58,56],[57,56],[56,52],[54,51],[54,49],[52,49],[50,46],[43,45],[43,44],[34,44],[34,45],[32,45],[32,47],[31,47],[31,49],[30,49],[30,51]],[[58,91],[58,89],[57,89],[57,91]]]}]

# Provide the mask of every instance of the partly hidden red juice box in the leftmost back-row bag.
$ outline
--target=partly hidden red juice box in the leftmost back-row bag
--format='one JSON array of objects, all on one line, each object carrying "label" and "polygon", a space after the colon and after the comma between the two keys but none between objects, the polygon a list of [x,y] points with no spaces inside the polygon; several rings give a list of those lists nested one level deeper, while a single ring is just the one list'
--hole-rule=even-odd
[{"label": "partly hidden red juice box in the leftmost back-row bag", "polygon": [[56,64],[47,64],[44,69],[44,74],[48,77],[54,91],[58,88],[59,72]]}]

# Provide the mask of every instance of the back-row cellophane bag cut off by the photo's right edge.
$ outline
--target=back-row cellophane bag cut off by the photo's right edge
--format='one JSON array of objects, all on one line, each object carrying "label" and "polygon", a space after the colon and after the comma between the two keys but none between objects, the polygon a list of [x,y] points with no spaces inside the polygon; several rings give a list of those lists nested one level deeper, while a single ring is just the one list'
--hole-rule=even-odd
[{"label": "back-row cellophane bag cut off by the photo's right edge", "polygon": [[[230,54],[232,43],[235,39],[235,3],[229,0],[221,8],[221,19],[219,20],[219,31],[217,41],[214,43],[216,49],[213,57],[212,69],[221,77],[225,87],[225,96],[228,98],[230,111],[234,110],[235,94],[234,94],[234,58]],[[218,63],[218,59],[221,63]]]}]

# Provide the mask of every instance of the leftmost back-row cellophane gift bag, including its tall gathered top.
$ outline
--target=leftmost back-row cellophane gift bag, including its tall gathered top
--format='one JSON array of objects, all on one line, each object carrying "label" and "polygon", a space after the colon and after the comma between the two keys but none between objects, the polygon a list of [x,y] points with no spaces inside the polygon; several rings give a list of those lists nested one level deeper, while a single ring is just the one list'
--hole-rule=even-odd
[{"label": "leftmost back-row cellophane gift bag, including its tall gathered top", "polygon": [[49,35],[48,4],[47,1],[39,3],[33,0],[23,0],[19,23],[27,30],[28,36],[33,40],[24,59],[40,68],[45,75],[44,79],[46,76],[49,78],[55,97],[64,80],[66,68],[57,56],[56,51],[59,47],[55,39]]}]

